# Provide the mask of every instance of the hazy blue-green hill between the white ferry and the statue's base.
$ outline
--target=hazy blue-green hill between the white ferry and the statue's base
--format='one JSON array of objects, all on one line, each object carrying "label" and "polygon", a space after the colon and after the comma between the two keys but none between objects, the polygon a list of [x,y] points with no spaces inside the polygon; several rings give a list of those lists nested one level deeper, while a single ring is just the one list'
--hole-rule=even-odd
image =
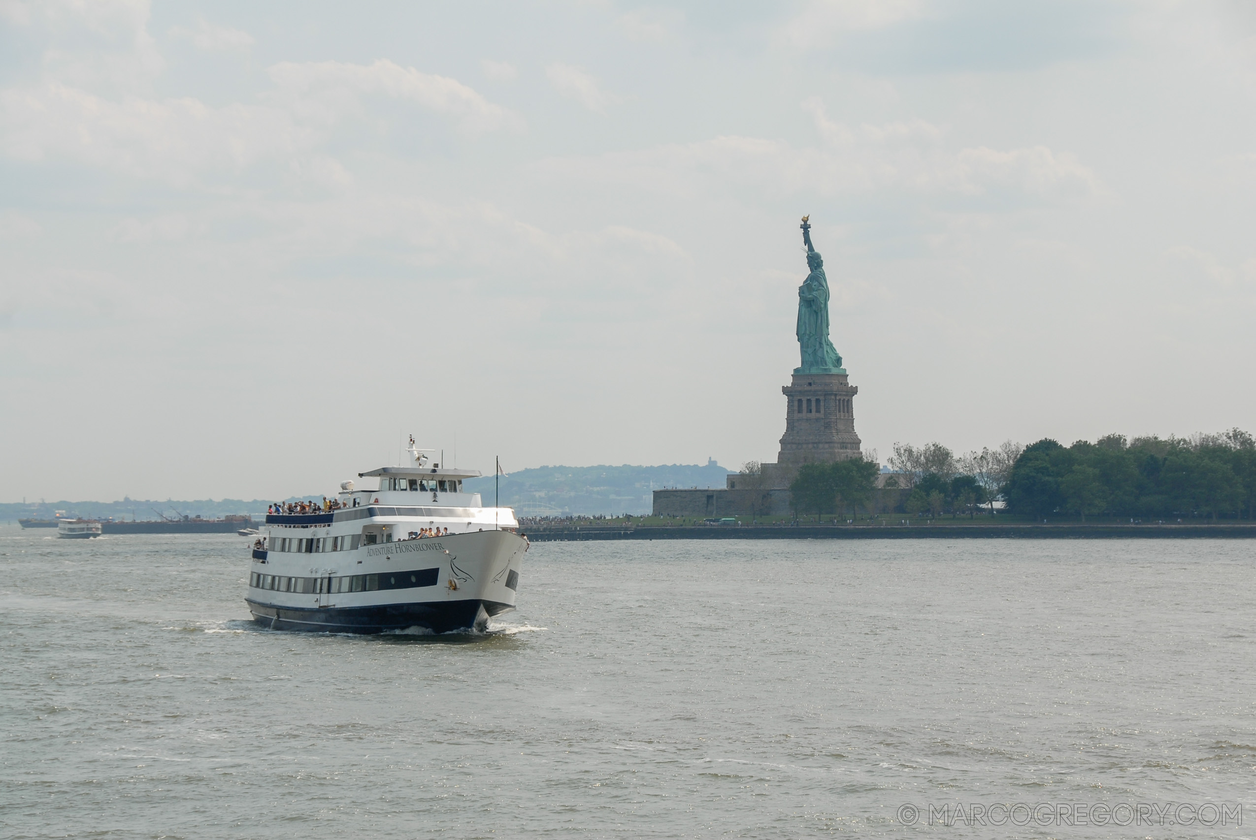
[{"label": "hazy blue-green hill between the white ferry and the statue's base", "polygon": [[[531,467],[501,476],[501,503],[522,516],[569,514],[648,514],[652,491],[659,487],[723,487],[732,470],[713,460],[706,466],[671,463],[657,467]],[[492,476],[465,481],[463,488],[492,505]]]}]

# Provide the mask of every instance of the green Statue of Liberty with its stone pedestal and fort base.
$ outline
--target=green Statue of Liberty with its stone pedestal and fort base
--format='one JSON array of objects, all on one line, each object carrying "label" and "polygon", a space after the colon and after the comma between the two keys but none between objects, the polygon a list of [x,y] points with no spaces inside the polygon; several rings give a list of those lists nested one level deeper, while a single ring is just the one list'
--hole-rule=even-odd
[{"label": "green Statue of Liberty with its stone pedestal and fort base", "polygon": [[785,434],[776,463],[757,475],[734,473],[722,488],[656,490],[656,516],[780,515],[790,510],[789,486],[805,463],[863,457],[855,434],[854,398],[842,355],[829,338],[829,279],[824,259],[811,242],[810,216],[803,217],[803,245],[809,274],[798,289],[799,367],[785,396]]}]

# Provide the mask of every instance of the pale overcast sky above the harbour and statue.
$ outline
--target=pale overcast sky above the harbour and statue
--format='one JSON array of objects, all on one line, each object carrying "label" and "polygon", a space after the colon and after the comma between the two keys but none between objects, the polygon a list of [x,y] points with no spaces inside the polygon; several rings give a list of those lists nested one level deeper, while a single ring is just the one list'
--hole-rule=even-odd
[{"label": "pale overcast sky above the harbour and statue", "polygon": [[0,1],[0,498],[1256,431],[1251,3]]}]

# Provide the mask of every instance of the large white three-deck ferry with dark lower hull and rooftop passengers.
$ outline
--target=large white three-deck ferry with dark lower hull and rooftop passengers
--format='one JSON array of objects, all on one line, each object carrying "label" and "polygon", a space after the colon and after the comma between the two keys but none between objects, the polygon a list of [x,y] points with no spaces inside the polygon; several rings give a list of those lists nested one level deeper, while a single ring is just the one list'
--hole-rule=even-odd
[{"label": "large white three-deck ferry with dark lower hull and rooftop passengers", "polygon": [[[484,630],[515,608],[526,537],[510,507],[484,507],[480,472],[428,463],[359,472],[314,512],[270,512],[255,540],[246,601],[276,630]],[[330,510],[328,510],[330,507]]]}]

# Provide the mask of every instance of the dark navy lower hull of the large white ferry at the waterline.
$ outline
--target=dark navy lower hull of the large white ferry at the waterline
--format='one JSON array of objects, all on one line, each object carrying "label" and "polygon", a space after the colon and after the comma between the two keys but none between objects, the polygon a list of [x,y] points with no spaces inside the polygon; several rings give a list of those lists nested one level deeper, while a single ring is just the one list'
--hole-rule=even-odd
[{"label": "dark navy lower hull of the large white ferry at the waterline", "polygon": [[304,609],[245,599],[254,620],[275,630],[313,633],[384,633],[422,627],[433,633],[468,630],[480,618],[480,608],[491,618],[514,609],[510,604],[480,599],[374,606],[328,606]]}]

